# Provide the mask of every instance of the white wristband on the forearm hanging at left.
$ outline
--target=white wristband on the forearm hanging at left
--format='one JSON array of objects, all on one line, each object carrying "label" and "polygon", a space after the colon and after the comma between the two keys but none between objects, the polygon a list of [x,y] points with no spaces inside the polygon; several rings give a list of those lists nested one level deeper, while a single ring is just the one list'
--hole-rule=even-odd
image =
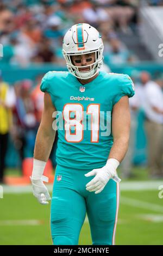
[{"label": "white wristband on the forearm hanging at left", "polygon": [[46,162],[34,159],[33,160],[33,171],[32,179],[40,179],[45,169]]}]

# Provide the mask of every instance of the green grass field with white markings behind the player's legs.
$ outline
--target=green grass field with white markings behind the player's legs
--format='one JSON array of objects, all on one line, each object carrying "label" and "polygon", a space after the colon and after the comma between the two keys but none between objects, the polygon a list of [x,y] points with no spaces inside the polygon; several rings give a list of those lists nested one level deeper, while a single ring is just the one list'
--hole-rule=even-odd
[{"label": "green grass field with white markings behind the player's legs", "polygon": [[[152,181],[155,187],[143,180],[121,182],[117,245],[163,245],[163,199],[158,197],[158,184],[163,185],[163,180]],[[0,209],[0,245],[52,245],[50,205],[40,205],[32,193],[4,192]],[[87,220],[80,233],[79,245],[91,245]]]}]

